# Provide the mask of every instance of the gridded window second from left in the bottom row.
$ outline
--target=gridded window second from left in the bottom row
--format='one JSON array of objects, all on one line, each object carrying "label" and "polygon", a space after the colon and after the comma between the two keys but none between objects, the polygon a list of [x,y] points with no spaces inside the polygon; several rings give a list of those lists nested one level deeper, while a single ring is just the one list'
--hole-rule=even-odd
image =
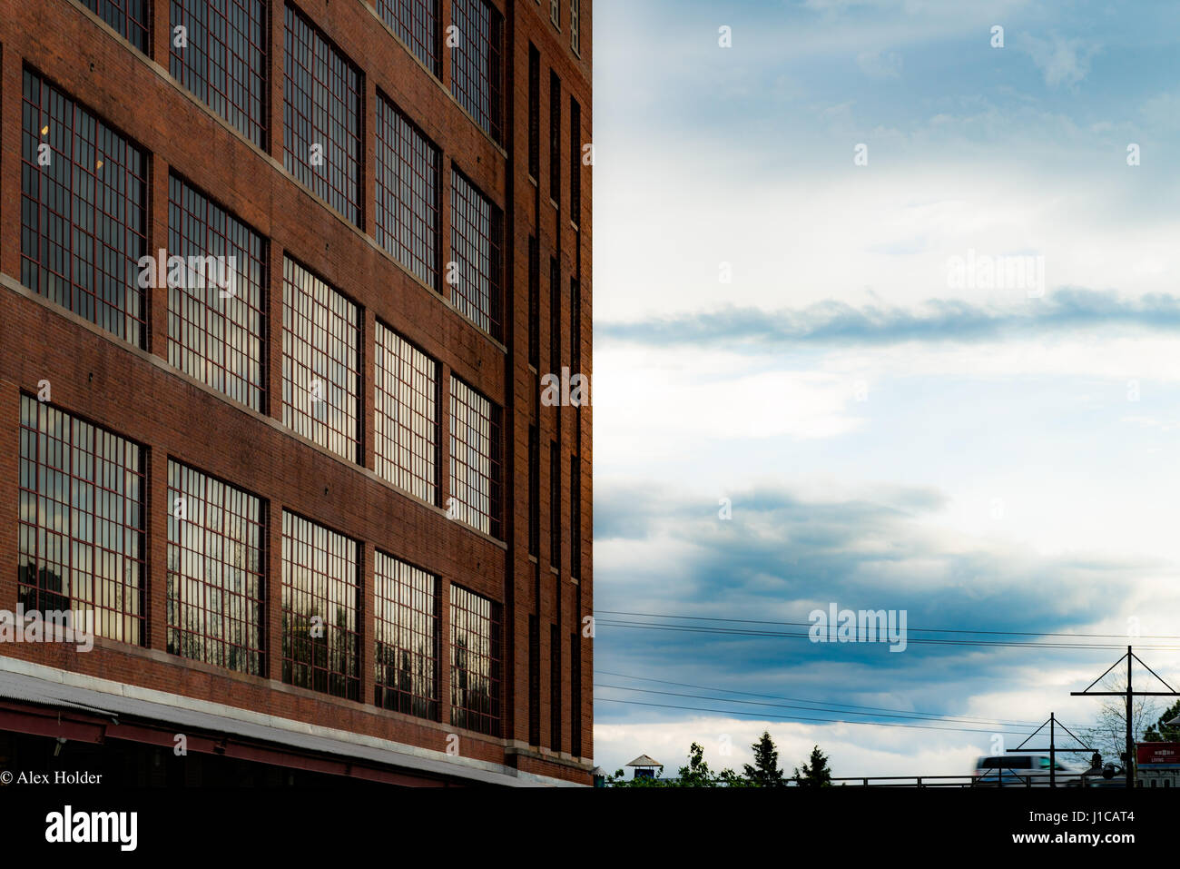
[{"label": "gridded window second from left in the bottom row", "polygon": [[262,502],[168,462],[168,651],[266,675]]}]

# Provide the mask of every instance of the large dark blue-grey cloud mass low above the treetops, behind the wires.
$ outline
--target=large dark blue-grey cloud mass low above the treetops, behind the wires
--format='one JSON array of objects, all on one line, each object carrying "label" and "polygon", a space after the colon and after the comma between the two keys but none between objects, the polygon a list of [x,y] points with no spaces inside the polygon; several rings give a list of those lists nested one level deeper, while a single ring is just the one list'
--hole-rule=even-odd
[{"label": "large dark blue-grey cloud mass low above the treetops, behind the wires", "polygon": [[[846,775],[905,772],[912,771],[913,758],[937,745],[945,751],[937,764],[931,759],[938,769],[923,770],[958,772],[962,758],[976,750],[969,746],[985,745],[989,738],[966,731],[986,731],[991,725],[911,721],[950,728],[925,731],[784,717],[866,720],[866,716],[833,708],[851,704],[990,721],[1040,721],[1050,708],[1044,705],[1047,695],[1068,699],[1070,690],[1084,687],[1106,659],[1117,653],[923,643],[914,638],[1010,641],[1083,630],[1121,636],[1126,614],[1141,612],[1135,608],[1143,606],[1132,590],[1149,587],[1146,577],[1168,575],[1166,564],[1133,554],[1045,556],[1027,547],[951,534],[936,525],[945,503],[942,492],[929,488],[883,486],[859,497],[833,494],[822,498],[767,484],[735,492],[733,518],[723,521],[715,498],[688,489],[599,484],[595,668],[597,697],[603,701],[595,711],[596,740],[602,739],[596,757],[609,758],[614,767],[647,751],[674,771],[693,739],[713,739],[716,745],[729,734],[741,751],[760,732],[765,717],[775,738],[792,746],[792,759],[800,746],[820,741],[825,747],[844,746],[837,753],[841,765],[848,764]],[[1169,623],[1166,614],[1180,605],[1175,592],[1161,584],[1147,599],[1160,615],[1160,626]],[[891,654],[879,645],[818,645],[805,638],[734,632],[804,632],[800,626],[774,622],[806,622],[809,610],[826,608],[828,602],[850,609],[905,609],[909,648]],[[625,622],[689,629],[635,628]],[[1158,629],[1155,621],[1152,625],[1145,633]],[[730,630],[712,633],[713,628]],[[922,628],[953,628],[956,633]],[[968,629],[1032,636],[958,633]],[[1154,654],[1161,666],[1175,658]],[[658,685],[636,677],[684,685]],[[734,692],[762,694],[775,701],[769,706],[807,698],[801,701],[817,708],[743,706],[734,701],[742,697]],[[730,714],[735,711],[745,712],[738,721]],[[1088,713],[1088,707],[1075,711],[1076,716]],[[656,739],[661,728],[675,739]],[[994,730],[1010,728],[997,724]],[[858,745],[880,754],[854,758],[846,753]],[[727,765],[734,763],[726,759]]]}]

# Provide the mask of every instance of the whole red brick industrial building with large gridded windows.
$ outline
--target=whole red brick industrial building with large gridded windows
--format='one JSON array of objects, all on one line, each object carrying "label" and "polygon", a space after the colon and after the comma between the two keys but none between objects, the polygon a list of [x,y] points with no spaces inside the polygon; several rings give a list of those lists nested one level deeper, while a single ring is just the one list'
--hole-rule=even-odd
[{"label": "whole red brick industrial building with large gridded windows", "polygon": [[590,783],[591,21],[0,0],[0,765]]}]

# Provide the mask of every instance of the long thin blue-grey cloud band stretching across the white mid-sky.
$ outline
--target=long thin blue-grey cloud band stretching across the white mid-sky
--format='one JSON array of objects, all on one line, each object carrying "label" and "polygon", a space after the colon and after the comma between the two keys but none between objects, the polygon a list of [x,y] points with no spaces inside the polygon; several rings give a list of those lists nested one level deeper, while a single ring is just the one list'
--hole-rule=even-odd
[{"label": "long thin blue-grey cloud band stretching across the white mid-sky", "polygon": [[1123,299],[1108,290],[1060,289],[1011,306],[930,300],[918,309],[839,301],[766,312],[728,306],[708,313],[636,322],[601,322],[601,338],[654,346],[723,346],[766,351],[808,345],[890,345],[905,341],[982,341],[1012,334],[1082,328],[1180,327],[1180,298]]}]

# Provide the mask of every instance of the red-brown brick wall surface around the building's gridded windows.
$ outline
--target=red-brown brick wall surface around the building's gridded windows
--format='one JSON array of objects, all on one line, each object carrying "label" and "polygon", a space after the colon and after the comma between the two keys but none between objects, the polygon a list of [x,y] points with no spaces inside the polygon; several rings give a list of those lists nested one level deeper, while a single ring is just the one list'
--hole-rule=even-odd
[{"label": "red-brown brick wall surface around the building's gridded windows", "polygon": [[[450,94],[450,55],[444,52],[442,83],[424,70],[375,14],[372,0],[299,0],[297,7],[365,74],[363,230],[348,223],[282,169],[283,9],[270,0],[271,45],[268,61],[271,105],[267,119],[268,151],[232,131],[203,103],[168,76],[168,0],[152,0],[151,51],[155,61],[119,39],[76,0],[0,0],[0,273],[8,283],[20,275],[20,133],[24,64],[85,104],[135,139],[151,155],[149,250],[166,247],[170,168],[203,189],[270,243],[269,417],[249,411],[205,388],[166,364],[168,302],[150,292],[148,351],[138,351],[84,324],[32,293],[0,286],[0,608],[17,600],[17,447],[20,391],[34,391],[48,379],[53,403],[87,417],[149,447],[149,639],[148,648],[98,641],[91,654],[50,645],[0,646],[0,654],[35,660],[80,673],[228,703],[326,726],[444,750],[448,724],[447,608],[442,607],[440,694],[442,720],[424,721],[378,710],[373,697],[373,550],[381,548],[441,577],[440,599],[458,582],[505,605],[503,739],[460,731],[461,753],[516,765],[513,743],[529,739],[527,616],[542,623],[542,744],[549,739],[549,630],[578,629],[592,612],[591,410],[542,407],[537,374],[527,362],[527,236],[538,231],[542,262],[559,251],[562,262],[563,357],[569,358],[568,285],[582,282],[582,370],[591,373],[591,183],[583,169],[583,214],[575,228],[568,213],[549,201],[549,68],[562,78],[562,181],[569,187],[569,98],[582,105],[582,141],[591,142],[591,4],[582,0],[582,57],[569,47],[569,1],[562,0],[562,31],[549,21],[549,0],[493,0],[506,17],[505,143],[493,143]],[[450,22],[450,1],[442,2]],[[539,188],[527,176],[529,43],[542,58],[542,169]],[[442,150],[442,261],[450,259],[450,168],[460,168],[505,211],[505,338],[489,339],[454,312],[437,293],[417,281],[372,237],[374,223],[373,119],[375,92],[388,94]],[[569,207],[569,190],[562,203]],[[535,228],[535,229],[530,229]],[[363,311],[363,463],[345,462],[295,437],[280,423],[282,377],[282,261],[284,253],[320,274]],[[540,294],[542,346],[549,341],[548,269]],[[445,511],[424,504],[380,481],[373,466],[373,338],[376,318],[389,324],[440,362],[444,386],[451,372],[504,407],[504,541],[450,522]],[[548,355],[548,354],[546,354]],[[548,360],[546,360],[548,361]],[[540,374],[546,372],[542,371]],[[591,393],[592,396],[592,393]],[[444,392],[441,432],[441,503],[448,485],[448,404]],[[542,548],[539,564],[527,555],[527,430],[540,427],[540,443],[557,437],[563,469],[578,453],[582,466],[581,584],[571,581],[570,481],[563,479],[562,535],[566,568],[549,568],[549,463],[542,462]],[[581,429],[581,438],[579,438]],[[543,455],[548,452],[543,449]],[[245,677],[195,664],[164,652],[164,566],[166,555],[166,464],[183,460],[247,489],[268,502],[268,665],[270,679]],[[280,518],[290,509],[363,541],[361,665],[366,703],[337,700],[284,686],[278,632]],[[536,573],[540,574],[540,595]],[[558,596],[559,594],[559,596]],[[559,612],[559,615],[558,615]],[[581,634],[579,634],[581,636]],[[582,759],[592,757],[592,652],[582,642],[582,703],[571,710],[570,651],[563,649],[563,753],[527,750],[519,763],[540,775],[589,782],[585,766],[569,766],[573,721],[582,732]],[[537,758],[533,757],[537,754]]]}]

